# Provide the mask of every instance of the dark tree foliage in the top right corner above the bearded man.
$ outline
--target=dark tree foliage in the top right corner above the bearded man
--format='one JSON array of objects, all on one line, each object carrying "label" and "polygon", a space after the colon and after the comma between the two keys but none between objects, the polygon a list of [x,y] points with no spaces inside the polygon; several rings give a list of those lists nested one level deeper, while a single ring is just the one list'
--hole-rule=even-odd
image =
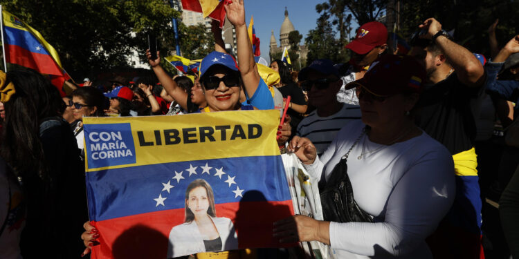
[{"label": "dark tree foliage in the top right corner above the bearded man", "polygon": [[519,1],[406,1],[401,9],[400,34],[410,37],[418,25],[435,17],[444,30],[454,30],[457,43],[489,57],[487,28],[499,18],[496,36],[500,46],[519,33]]}]

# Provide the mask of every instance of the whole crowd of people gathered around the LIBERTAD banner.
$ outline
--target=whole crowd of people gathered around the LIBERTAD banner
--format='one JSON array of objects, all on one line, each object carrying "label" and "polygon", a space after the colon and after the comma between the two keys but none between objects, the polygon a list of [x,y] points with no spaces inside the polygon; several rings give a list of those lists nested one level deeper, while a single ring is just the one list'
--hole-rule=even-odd
[{"label": "whole crowd of people gathered around the LIBERTAD banner", "polygon": [[[225,9],[237,55],[213,22],[215,51],[192,75],[171,77],[161,53],[153,58],[149,50],[154,76],[118,78],[104,92],[74,86],[60,97],[33,70],[0,72],[0,258],[78,258],[96,244],[100,233],[86,211],[84,117],[285,106],[282,152],[295,154],[321,190],[346,178],[349,204],[364,220],[294,215],[275,222],[280,242],[322,242],[332,258],[484,258],[482,207],[493,192],[509,253],[519,258],[519,35],[499,50],[496,21],[487,62],[430,18],[403,56],[389,53],[387,28],[372,21],[345,46],[349,61],[318,59],[295,73],[279,59],[270,68],[256,64],[243,1]],[[210,222],[208,215],[194,218]],[[208,240],[215,238],[213,231]],[[206,248],[215,258],[262,257],[222,250]]]}]

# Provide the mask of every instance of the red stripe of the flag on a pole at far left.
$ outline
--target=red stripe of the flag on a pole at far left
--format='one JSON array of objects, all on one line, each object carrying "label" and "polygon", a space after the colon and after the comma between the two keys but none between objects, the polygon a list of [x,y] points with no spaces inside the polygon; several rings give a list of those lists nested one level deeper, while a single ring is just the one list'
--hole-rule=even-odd
[{"label": "red stripe of the flag on a pole at far left", "polygon": [[50,55],[30,52],[16,45],[6,44],[6,62],[33,68],[47,75],[63,75],[62,70]]}]

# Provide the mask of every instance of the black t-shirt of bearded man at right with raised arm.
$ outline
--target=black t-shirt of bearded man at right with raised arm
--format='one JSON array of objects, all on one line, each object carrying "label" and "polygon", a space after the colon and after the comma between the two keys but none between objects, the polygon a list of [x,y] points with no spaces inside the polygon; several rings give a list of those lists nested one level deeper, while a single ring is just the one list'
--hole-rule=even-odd
[{"label": "black t-shirt of bearded man at right with raised arm", "polygon": [[426,86],[415,106],[415,123],[452,155],[471,149],[476,136],[471,100],[482,94],[482,88],[465,86],[455,73]]}]

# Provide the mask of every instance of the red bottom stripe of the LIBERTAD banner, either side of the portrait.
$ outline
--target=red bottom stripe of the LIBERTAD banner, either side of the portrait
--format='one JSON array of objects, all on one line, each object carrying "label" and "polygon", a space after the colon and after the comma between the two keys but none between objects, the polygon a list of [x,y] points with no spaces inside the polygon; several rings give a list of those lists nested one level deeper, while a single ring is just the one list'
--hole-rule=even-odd
[{"label": "red bottom stripe of the LIBERTAD banner, either side of the portrait", "polygon": [[[272,236],[273,222],[293,215],[291,204],[233,202],[215,204],[215,209],[217,217],[233,221],[240,248],[291,247],[294,244],[280,244]],[[100,245],[93,247],[91,258],[166,258],[170,231],[183,221],[184,209],[170,209],[91,222],[100,233]]]}]

